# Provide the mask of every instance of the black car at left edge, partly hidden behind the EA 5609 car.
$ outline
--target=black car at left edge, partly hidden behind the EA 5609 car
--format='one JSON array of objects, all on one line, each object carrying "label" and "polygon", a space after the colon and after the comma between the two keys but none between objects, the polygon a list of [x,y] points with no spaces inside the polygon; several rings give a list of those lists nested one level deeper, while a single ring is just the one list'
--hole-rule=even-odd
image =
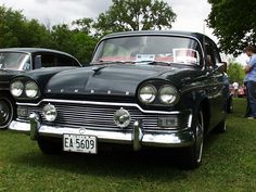
[{"label": "black car at left edge, partly hidden behind the EA 5609 car", "polygon": [[7,128],[15,115],[15,102],[9,91],[12,77],[40,67],[80,66],[65,52],[39,48],[0,49],[0,129]]}]

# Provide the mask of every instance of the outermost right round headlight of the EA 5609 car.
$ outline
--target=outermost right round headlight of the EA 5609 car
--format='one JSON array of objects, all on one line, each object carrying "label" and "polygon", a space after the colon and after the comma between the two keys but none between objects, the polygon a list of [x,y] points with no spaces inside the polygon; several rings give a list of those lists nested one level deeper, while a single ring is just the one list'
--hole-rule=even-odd
[{"label": "outermost right round headlight of the EA 5609 car", "polygon": [[174,104],[178,98],[178,91],[174,86],[164,86],[159,89],[159,101],[164,104]]}]

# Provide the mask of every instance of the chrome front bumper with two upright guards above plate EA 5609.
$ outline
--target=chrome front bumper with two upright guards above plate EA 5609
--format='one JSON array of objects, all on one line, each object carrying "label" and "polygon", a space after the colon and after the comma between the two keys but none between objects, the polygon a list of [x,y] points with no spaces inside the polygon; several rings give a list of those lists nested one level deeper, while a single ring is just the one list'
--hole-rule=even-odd
[{"label": "chrome front bumper with two upright guards above plate EA 5609", "polygon": [[191,130],[169,133],[143,132],[138,120],[133,123],[133,131],[120,132],[44,126],[40,125],[37,116],[33,114],[29,119],[29,123],[13,120],[9,129],[27,133],[30,132],[33,140],[37,139],[38,136],[62,138],[64,133],[95,136],[99,142],[132,144],[135,151],[140,150],[142,145],[161,148],[189,146],[195,141]]}]

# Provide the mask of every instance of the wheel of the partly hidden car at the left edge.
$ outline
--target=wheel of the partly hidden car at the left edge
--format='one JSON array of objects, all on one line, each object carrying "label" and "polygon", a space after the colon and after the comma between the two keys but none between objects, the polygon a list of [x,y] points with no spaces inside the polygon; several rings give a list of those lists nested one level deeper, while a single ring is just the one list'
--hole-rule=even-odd
[{"label": "wheel of the partly hidden car at the left edge", "polygon": [[0,129],[5,129],[13,119],[13,103],[8,98],[0,98]]}]

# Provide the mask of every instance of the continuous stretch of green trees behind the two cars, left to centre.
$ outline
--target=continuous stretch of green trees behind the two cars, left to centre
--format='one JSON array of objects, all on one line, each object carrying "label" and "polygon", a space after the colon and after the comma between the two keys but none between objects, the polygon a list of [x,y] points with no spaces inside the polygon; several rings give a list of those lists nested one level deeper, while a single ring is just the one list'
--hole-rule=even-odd
[{"label": "continuous stretch of green trees behind the two cars, left to centre", "polygon": [[159,0],[113,0],[98,22],[79,18],[51,29],[36,20],[27,21],[21,11],[0,5],[0,48],[41,47],[73,54],[81,63],[89,63],[100,37],[113,31],[171,28],[176,14]]}]

